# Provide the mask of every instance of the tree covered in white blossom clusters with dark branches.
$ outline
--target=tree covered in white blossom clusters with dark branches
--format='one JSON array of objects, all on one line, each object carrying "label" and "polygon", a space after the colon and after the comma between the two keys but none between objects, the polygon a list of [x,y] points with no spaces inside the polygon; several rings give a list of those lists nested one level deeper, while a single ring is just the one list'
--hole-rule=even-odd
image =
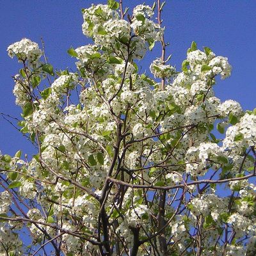
[{"label": "tree covered in white blossom clusters with dark branches", "polygon": [[[83,9],[94,44],[68,49],[76,72],[29,39],[8,47],[38,154],[1,155],[0,255],[255,255],[256,111],[214,97],[231,67],[208,47],[168,64],[163,6]],[[153,79],[136,62],[157,41]]]}]

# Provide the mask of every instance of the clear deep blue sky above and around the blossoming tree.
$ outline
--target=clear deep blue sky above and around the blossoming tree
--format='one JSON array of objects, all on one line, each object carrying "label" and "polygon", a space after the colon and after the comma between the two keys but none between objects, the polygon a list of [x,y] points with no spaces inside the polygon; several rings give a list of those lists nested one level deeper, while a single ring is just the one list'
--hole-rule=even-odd
[{"label": "clear deep blue sky above and around the blossoming tree", "polygon": [[[125,6],[152,0],[123,0]],[[90,42],[81,31],[83,17],[81,8],[91,3],[106,3],[106,0],[8,0],[1,1],[0,10],[0,112],[20,117],[20,108],[15,106],[12,95],[11,76],[19,72],[20,64],[7,56],[6,48],[21,38],[30,38],[40,43],[44,38],[45,52],[54,68],[74,68],[74,58],[67,49]],[[130,12],[132,11],[132,6]],[[163,12],[166,26],[166,42],[170,42],[167,54],[172,54],[170,63],[180,70],[191,41],[198,48],[208,46],[216,54],[227,56],[233,67],[232,76],[218,81],[216,96],[221,100],[234,99],[243,109],[256,107],[256,1],[255,0],[167,0]],[[157,47],[156,47],[157,49]],[[156,52],[154,56],[160,56]],[[154,58],[148,54],[141,61],[142,70]],[[15,122],[15,121],[14,121]],[[31,155],[35,152],[26,138],[0,117],[0,150],[3,154],[15,154],[22,149]]]}]

